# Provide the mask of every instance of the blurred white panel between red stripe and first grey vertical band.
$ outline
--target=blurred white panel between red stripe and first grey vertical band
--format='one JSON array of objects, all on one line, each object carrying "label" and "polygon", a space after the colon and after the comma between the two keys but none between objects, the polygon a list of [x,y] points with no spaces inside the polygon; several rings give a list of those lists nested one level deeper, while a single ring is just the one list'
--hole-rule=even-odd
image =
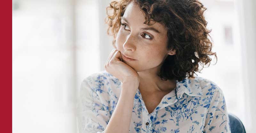
[{"label": "blurred white panel between red stripe and first grey vertical band", "polygon": [[16,2],[19,8],[12,12],[12,132],[76,132],[74,3]]}]

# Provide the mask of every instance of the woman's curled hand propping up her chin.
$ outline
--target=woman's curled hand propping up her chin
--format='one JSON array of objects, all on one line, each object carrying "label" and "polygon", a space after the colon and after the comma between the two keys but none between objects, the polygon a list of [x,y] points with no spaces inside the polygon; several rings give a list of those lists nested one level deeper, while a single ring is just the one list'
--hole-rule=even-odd
[{"label": "woman's curled hand propping up her chin", "polygon": [[106,71],[122,83],[131,82],[139,85],[139,74],[132,67],[122,62],[122,60],[121,52],[113,49],[105,64]]}]

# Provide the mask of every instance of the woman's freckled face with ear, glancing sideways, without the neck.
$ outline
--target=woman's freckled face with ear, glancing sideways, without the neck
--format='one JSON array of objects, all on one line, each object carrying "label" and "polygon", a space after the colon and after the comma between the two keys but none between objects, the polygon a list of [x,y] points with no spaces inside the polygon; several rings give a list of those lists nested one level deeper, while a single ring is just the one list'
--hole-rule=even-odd
[{"label": "woman's freckled face with ear, glancing sideways, without the neck", "polygon": [[[164,26],[160,23],[148,26],[143,22],[143,13],[130,3],[116,36],[116,49],[122,53],[123,62],[136,72],[161,66],[168,54],[175,54],[166,48],[168,37]],[[125,60],[124,55],[135,60]]]}]

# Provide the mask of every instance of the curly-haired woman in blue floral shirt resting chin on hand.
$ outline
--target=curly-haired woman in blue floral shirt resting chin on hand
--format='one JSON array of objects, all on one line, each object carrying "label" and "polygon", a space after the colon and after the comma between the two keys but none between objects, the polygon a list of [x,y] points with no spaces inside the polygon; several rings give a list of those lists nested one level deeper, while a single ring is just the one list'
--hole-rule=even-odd
[{"label": "curly-haired woman in blue floral shirt resting chin on hand", "polygon": [[210,65],[211,31],[197,0],[112,1],[114,50],[81,85],[80,133],[230,133],[221,89],[194,76]]}]

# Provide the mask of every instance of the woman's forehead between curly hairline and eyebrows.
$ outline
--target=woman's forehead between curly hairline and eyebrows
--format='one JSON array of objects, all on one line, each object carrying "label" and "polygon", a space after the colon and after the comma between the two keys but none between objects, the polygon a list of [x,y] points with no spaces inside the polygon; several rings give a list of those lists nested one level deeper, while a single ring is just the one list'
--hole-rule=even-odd
[{"label": "woman's forehead between curly hairline and eyebrows", "polygon": [[139,9],[139,7],[134,3],[130,3],[127,5],[123,17],[125,17],[129,21],[130,25],[136,25],[140,28],[154,27],[162,33],[165,31],[164,26],[160,23],[155,23],[153,25],[144,24],[145,16],[141,9]]}]

